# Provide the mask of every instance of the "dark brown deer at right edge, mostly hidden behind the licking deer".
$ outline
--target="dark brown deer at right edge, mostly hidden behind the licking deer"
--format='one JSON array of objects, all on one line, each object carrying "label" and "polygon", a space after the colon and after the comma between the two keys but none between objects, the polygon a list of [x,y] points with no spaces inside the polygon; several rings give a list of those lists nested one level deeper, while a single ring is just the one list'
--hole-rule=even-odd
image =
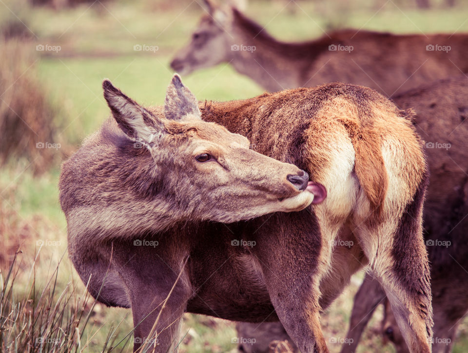
[{"label": "dark brown deer at right edge, mostly hidden behind the licking deer", "polygon": [[[424,237],[431,263],[434,337],[432,352],[449,353],[457,327],[468,312],[468,78],[447,78],[393,98],[402,109],[416,111],[414,124],[429,142],[429,188],[424,208]],[[445,143],[446,146],[436,144]],[[450,146],[448,145],[450,144]],[[385,305],[382,334],[397,352],[409,352],[398,330],[385,292],[366,275],[355,295],[348,338],[341,352],[354,352],[362,332],[379,304]],[[273,338],[273,337],[272,337]],[[351,340],[350,340],[351,341]]]}]

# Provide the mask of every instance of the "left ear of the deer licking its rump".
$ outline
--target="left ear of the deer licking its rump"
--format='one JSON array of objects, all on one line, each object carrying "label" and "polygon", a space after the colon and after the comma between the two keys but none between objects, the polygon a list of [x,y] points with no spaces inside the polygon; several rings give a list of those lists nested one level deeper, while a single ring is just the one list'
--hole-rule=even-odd
[{"label": "left ear of the deer licking its rump", "polygon": [[130,138],[143,143],[153,142],[164,131],[156,117],[133,99],[125,96],[108,79],[102,82],[104,98],[118,126]]}]

